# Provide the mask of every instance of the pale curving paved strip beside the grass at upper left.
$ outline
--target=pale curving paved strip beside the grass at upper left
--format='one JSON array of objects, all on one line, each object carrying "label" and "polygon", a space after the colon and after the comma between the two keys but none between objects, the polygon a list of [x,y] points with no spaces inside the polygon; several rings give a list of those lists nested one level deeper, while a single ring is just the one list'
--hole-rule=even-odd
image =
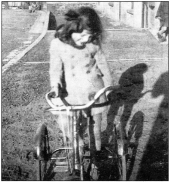
[{"label": "pale curving paved strip beside the grass at upper left", "polygon": [[[19,12],[18,14],[16,14],[16,16],[19,17],[21,13]],[[28,16],[28,14],[26,14],[26,16]],[[28,21],[25,17],[23,17],[23,19],[25,22]],[[16,64],[26,53],[28,53],[34,46],[36,46],[41,41],[41,39],[46,34],[48,28],[48,22],[49,22],[49,12],[39,11],[38,17],[35,20],[33,26],[30,27],[29,32],[27,31],[24,34],[22,34],[24,35],[24,38],[21,37],[22,43],[17,44],[16,49],[12,50],[7,55],[7,57],[2,60],[2,65],[3,65],[2,73],[4,73],[7,69],[9,69],[12,65]],[[9,33],[7,35],[9,35]],[[13,35],[15,35],[15,33],[13,33]],[[12,46],[15,46],[15,42],[17,42],[18,39],[20,39],[19,35],[16,39],[12,41]],[[7,44],[5,44],[5,46],[7,46]]]}]

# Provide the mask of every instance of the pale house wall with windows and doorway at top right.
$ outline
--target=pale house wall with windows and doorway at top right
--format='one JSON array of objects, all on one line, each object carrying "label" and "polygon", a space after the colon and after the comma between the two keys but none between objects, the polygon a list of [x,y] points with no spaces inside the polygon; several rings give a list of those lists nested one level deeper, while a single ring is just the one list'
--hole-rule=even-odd
[{"label": "pale house wall with windows and doorway at top right", "polygon": [[99,2],[97,8],[114,21],[120,21],[135,28],[156,29],[155,19],[160,2]]}]

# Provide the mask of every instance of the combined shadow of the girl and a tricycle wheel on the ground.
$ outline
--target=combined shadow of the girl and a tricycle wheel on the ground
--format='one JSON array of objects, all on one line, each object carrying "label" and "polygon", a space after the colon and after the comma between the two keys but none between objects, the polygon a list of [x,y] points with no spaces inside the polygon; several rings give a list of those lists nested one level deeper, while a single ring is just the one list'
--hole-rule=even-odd
[{"label": "combined shadow of the girl and a tricycle wheel on the ground", "polygon": [[[135,155],[138,147],[139,138],[143,131],[144,114],[138,111],[131,119],[128,135],[126,134],[125,127],[131,116],[133,106],[142,98],[147,92],[142,93],[144,89],[143,74],[148,70],[144,63],[137,64],[127,69],[119,80],[120,88],[111,93],[111,106],[107,117],[107,128],[102,133],[104,144],[110,145],[112,143],[112,130],[115,117],[119,114],[119,108],[123,106],[123,112],[120,116],[124,138],[127,140],[127,145],[130,149],[130,161],[127,170],[127,179],[129,179],[135,161]],[[134,142],[131,139],[134,138]]]}]

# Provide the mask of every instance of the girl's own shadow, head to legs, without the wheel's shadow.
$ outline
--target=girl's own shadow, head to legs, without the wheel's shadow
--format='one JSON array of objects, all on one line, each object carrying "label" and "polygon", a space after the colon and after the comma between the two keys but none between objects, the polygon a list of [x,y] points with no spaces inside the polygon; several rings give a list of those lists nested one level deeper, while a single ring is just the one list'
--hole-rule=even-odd
[{"label": "girl's own shadow, head to legs, without the wheel's shadow", "polygon": [[121,106],[123,106],[124,109],[120,120],[122,128],[124,129],[125,137],[125,127],[134,104],[136,104],[141,97],[149,92],[146,91],[145,93],[142,93],[144,89],[143,74],[147,70],[147,65],[145,63],[140,63],[130,67],[121,75],[119,79],[120,87],[113,91],[110,95],[111,106],[107,115],[107,128],[103,132],[103,143],[111,143],[110,138],[112,135],[113,122]]}]

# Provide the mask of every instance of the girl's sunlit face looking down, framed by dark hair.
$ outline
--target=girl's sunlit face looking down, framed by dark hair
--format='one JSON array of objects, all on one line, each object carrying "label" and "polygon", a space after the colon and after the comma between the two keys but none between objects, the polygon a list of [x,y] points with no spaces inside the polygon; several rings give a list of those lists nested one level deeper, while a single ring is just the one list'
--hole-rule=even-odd
[{"label": "girl's sunlit face looking down, framed by dark hair", "polygon": [[74,32],[71,36],[77,46],[83,46],[89,42],[92,34],[88,30],[83,30],[81,33]]}]

